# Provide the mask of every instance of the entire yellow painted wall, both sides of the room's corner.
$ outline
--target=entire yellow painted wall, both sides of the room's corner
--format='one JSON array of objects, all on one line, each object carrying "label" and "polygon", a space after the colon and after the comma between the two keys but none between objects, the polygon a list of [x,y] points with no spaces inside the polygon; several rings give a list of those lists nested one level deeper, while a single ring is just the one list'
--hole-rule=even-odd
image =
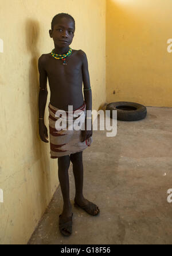
[{"label": "entire yellow painted wall, both sides of the room's corner", "polygon": [[[59,185],[57,160],[50,159],[49,144],[38,135],[37,61],[54,47],[48,33],[52,18],[61,12],[75,18],[71,47],[87,54],[93,110],[98,110],[105,100],[172,107],[172,53],[167,52],[167,40],[172,38],[172,2],[0,3],[0,39],[4,42],[0,53],[0,189],[4,192],[0,244],[25,244]],[[50,92],[47,106],[49,97]]]}]

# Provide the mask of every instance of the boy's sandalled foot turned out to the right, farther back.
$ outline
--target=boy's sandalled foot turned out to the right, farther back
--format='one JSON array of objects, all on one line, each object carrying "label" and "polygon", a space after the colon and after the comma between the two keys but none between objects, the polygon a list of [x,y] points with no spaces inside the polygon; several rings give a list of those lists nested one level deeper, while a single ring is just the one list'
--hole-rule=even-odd
[{"label": "boy's sandalled foot turned out to the right, farther back", "polygon": [[84,209],[87,213],[93,216],[97,215],[100,212],[99,207],[97,205],[88,201],[84,197],[82,199],[77,199],[75,197],[75,206],[79,206],[80,208]]}]

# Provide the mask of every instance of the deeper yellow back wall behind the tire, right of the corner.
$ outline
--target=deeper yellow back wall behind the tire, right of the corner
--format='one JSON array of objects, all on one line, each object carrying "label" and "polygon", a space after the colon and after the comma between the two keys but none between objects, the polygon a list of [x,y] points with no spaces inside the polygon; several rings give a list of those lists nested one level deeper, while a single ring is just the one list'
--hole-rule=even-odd
[{"label": "deeper yellow back wall behind the tire, right of the corner", "polygon": [[171,0],[107,0],[108,103],[172,107],[171,10]]}]

